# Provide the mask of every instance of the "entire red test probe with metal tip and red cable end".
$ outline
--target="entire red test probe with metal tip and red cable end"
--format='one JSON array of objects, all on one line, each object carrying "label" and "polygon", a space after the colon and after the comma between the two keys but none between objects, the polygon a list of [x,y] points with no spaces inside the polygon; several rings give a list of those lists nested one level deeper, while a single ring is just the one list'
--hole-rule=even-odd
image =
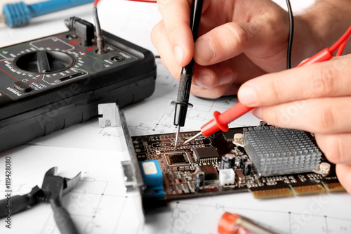
[{"label": "entire red test probe with metal tip and red cable end", "polygon": [[[336,43],[333,44],[333,46],[331,46],[330,48],[324,48],[322,51],[319,51],[319,53],[303,61],[303,63],[300,63],[297,67],[302,67],[304,65],[310,65],[312,63],[319,63],[326,60],[330,60],[331,58],[333,58],[333,53],[336,51],[337,48],[339,49],[336,53],[336,56],[340,56],[343,53],[343,49],[345,48],[350,34],[351,27],[349,27],[345,34],[343,34],[343,36],[340,37],[340,39],[338,39],[338,41],[336,41]],[[187,141],[184,142],[184,145],[190,143],[190,141],[193,141],[201,135],[210,136],[219,130],[222,130],[224,132],[228,131],[228,124],[230,124],[230,122],[233,122],[235,119],[241,117],[242,115],[245,115],[250,110],[253,110],[253,108],[247,107],[246,105],[239,102],[232,106],[232,108],[223,112],[222,114],[220,114],[220,112],[218,111],[213,112],[214,118],[211,119],[210,122],[207,122],[204,126],[201,126],[201,131],[198,134],[192,136],[192,138],[187,139]]]}]

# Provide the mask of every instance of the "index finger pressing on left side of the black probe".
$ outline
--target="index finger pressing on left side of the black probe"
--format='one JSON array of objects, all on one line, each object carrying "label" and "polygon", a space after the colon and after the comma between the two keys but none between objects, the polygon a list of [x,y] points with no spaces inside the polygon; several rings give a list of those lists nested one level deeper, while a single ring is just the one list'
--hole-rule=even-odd
[{"label": "index finger pressing on left side of the black probe", "polygon": [[159,0],[159,12],[164,20],[169,45],[176,62],[185,66],[192,60],[194,40],[190,29],[190,0]]}]

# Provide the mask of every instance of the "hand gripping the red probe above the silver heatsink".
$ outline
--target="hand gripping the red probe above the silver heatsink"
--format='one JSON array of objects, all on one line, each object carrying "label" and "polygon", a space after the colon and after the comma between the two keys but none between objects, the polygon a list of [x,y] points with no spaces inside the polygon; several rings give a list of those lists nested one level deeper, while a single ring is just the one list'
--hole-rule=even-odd
[{"label": "hand gripping the red probe above the silver heatsink", "polygon": [[351,193],[351,55],[265,74],[244,83],[241,103],[275,126],[314,133],[340,183]]}]

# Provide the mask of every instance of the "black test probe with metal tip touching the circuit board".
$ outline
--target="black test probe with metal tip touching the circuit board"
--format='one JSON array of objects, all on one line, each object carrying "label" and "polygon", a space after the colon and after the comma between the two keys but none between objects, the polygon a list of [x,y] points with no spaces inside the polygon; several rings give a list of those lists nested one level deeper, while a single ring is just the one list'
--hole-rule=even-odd
[{"label": "black test probe with metal tip touching the circuit board", "polygon": [[[203,0],[194,0],[192,3],[192,13],[190,15],[190,28],[192,30],[192,38],[194,43],[199,33],[199,25],[202,11]],[[174,121],[173,124],[178,126],[176,134],[176,142],[174,148],[177,148],[180,127],[185,125],[185,118],[187,117],[187,108],[192,108],[192,104],[189,103],[190,87],[192,86],[192,74],[194,72],[194,58],[188,65],[182,68],[180,73],[180,82],[178,87],[177,100],[172,102],[172,105],[176,105],[174,110]]]}]

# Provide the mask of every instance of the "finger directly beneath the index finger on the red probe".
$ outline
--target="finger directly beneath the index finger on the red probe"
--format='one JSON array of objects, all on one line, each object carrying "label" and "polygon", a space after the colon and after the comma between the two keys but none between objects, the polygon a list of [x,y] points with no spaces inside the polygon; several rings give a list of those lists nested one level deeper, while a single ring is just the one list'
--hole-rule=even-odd
[{"label": "finger directly beneath the index finger on the red probe", "polygon": [[253,115],[276,126],[315,134],[345,133],[351,131],[348,121],[351,118],[350,102],[350,97],[299,100],[255,108]]}]

